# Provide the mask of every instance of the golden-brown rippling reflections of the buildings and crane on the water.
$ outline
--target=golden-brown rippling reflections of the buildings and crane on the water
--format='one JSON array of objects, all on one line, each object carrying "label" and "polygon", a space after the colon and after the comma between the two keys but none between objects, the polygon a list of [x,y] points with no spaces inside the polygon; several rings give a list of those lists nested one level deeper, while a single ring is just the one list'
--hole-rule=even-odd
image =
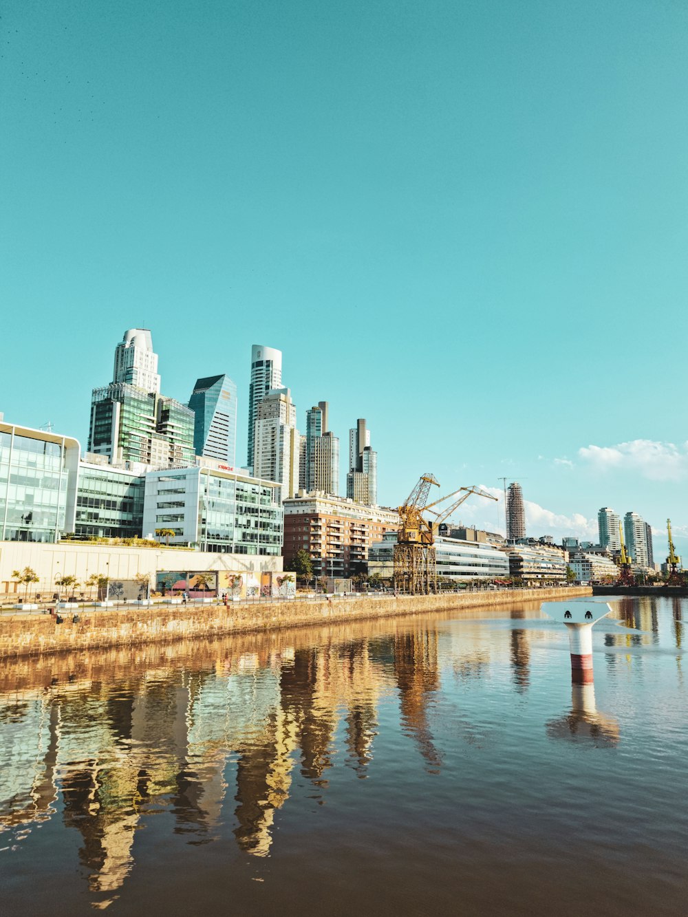
[{"label": "golden-brown rippling reflections of the buildings and crane on the water", "polygon": [[383,693],[398,691],[405,731],[427,768],[439,768],[428,721],[437,630],[279,649],[255,640],[248,651],[235,643],[209,649],[202,665],[192,649],[186,667],[161,651],[151,653],[156,664],[142,653],[139,668],[122,653],[105,656],[112,664],[94,653],[81,668],[57,660],[42,684],[0,693],[0,831],[22,841],[61,817],[79,835],[92,904],[105,908],[134,867],[135,836],[150,843],[137,832],[157,812],[172,815],[187,843],[228,826],[242,852],[268,856],[295,779],[327,800],[337,735],[337,760],[368,775]]}]

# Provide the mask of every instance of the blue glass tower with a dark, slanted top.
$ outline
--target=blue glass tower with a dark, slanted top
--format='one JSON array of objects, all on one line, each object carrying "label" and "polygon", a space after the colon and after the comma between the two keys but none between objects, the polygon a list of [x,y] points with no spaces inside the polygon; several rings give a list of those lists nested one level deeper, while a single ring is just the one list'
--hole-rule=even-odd
[{"label": "blue glass tower with a dark, slanted top", "polygon": [[189,399],[194,412],[194,452],[236,464],[237,386],[227,375],[198,379]]}]

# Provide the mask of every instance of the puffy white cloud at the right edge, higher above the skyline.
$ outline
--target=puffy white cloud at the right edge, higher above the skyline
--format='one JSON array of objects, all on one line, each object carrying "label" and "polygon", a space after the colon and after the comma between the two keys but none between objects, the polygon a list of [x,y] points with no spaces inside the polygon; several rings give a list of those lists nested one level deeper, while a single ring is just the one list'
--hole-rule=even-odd
[{"label": "puffy white cloud at the right edge, higher above the skyline", "polygon": [[688,475],[688,443],[675,446],[653,439],[632,439],[616,446],[587,446],[578,454],[600,471],[629,470],[649,481],[681,481]]}]

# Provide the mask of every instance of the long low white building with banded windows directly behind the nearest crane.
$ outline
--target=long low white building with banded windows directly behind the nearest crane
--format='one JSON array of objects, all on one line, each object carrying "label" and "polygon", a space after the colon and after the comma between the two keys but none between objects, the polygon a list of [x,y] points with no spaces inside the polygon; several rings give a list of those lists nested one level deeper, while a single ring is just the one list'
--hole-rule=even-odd
[{"label": "long low white building with banded windows directly behind the nearest crane", "polygon": [[[383,580],[394,576],[394,545],[396,532],[368,551],[368,572],[378,573]],[[449,580],[500,580],[509,576],[509,558],[504,551],[486,541],[467,541],[438,536],[435,539],[438,577]]]}]

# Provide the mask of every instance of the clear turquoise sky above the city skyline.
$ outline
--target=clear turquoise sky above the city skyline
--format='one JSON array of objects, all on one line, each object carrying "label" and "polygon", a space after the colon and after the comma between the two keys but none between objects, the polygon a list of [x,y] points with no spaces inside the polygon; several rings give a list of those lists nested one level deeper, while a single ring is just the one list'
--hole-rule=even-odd
[{"label": "clear turquoise sky above the city skyline", "polygon": [[[379,499],[520,481],[527,534],[688,554],[688,6],[5,0],[0,411],[77,436],[128,327],[162,392],[283,351]],[[342,484],[346,473],[342,461]],[[504,528],[477,497],[461,520]]]}]

